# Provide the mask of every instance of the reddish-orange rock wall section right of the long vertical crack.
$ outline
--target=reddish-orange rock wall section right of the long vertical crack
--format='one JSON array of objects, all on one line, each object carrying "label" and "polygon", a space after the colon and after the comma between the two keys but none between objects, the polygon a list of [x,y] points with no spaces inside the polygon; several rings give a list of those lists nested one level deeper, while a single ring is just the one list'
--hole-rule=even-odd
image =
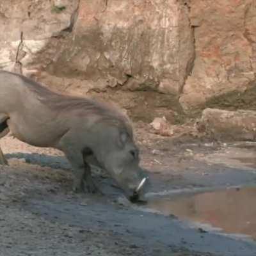
[{"label": "reddish-orange rock wall section right of the long vertical crack", "polygon": [[189,110],[212,96],[255,83],[256,1],[191,0],[196,58],[180,103]]}]

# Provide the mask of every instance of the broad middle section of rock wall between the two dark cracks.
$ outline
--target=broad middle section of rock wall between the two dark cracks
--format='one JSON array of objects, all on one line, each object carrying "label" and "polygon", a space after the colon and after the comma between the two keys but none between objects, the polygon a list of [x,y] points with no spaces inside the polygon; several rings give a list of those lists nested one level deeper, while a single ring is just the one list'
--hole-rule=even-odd
[{"label": "broad middle section of rock wall between the two dark cracks", "polygon": [[81,0],[66,39],[46,71],[66,77],[71,91],[121,86],[179,95],[194,56],[188,7],[175,0]]}]

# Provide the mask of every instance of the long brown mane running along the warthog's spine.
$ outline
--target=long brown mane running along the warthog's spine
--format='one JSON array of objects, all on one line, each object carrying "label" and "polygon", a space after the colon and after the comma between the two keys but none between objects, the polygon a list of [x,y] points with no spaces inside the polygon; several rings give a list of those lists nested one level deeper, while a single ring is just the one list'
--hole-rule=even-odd
[{"label": "long brown mane running along the warthog's spine", "polygon": [[131,138],[133,137],[131,120],[125,113],[121,112],[114,104],[94,100],[88,97],[76,97],[52,92],[45,86],[28,77],[15,74],[26,83],[29,90],[35,93],[36,98],[45,106],[57,111],[69,111],[78,109],[84,115],[97,115],[98,122],[106,122],[125,129]]}]

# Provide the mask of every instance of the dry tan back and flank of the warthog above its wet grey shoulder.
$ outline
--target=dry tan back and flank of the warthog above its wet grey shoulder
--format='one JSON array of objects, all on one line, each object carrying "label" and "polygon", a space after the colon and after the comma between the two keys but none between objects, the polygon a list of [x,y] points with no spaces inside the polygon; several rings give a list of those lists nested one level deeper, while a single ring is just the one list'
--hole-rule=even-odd
[{"label": "dry tan back and flank of the warthog above its wet grey shoulder", "polygon": [[[132,136],[127,116],[103,102],[51,92],[27,77],[0,72],[0,113],[12,133],[31,145],[52,147],[53,141],[77,123],[117,122]],[[77,114],[79,113],[79,114]]]}]

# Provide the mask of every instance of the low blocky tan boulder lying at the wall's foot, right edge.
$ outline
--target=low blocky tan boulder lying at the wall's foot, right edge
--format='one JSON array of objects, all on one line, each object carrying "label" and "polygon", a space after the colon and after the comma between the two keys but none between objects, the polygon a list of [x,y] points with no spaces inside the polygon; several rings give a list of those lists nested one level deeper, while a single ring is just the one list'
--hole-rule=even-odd
[{"label": "low blocky tan boulder lying at the wall's foot, right edge", "polygon": [[[198,127],[217,140],[256,140],[256,111],[204,109]],[[204,127],[204,129],[202,129]]]}]

